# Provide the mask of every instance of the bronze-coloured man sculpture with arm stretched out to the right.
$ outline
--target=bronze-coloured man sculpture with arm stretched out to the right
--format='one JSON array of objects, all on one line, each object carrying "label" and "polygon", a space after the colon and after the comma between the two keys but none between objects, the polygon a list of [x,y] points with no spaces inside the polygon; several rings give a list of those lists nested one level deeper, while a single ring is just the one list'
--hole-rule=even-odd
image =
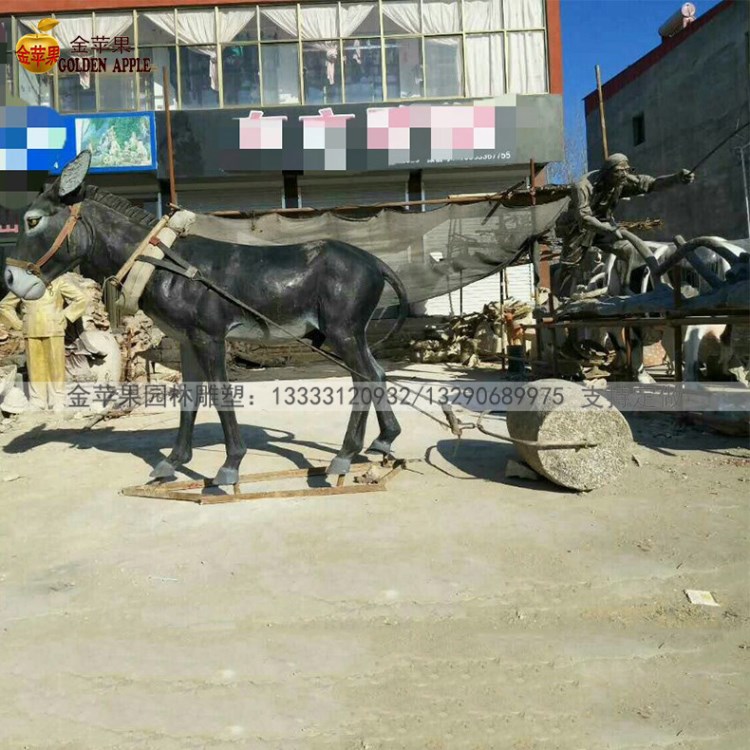
[{"label": "bronze-coloured man sculpture with arm stretched out to the right", "polygon": [[688,169],[665,177],[635,174],[625,154],[612,154],[601,169],[585,175],[573,186],[570,205],[555,227],[563,243],[556,284],[558,296],[570,296],[578,285],[585,283],[587,262],[591,260],[587,255],[592,247],[624,261],[623,278],[626,280],[640,265],[638,251],[622,236],[613,216],[620,198],[689,184],[694,179],[695,175]]}]

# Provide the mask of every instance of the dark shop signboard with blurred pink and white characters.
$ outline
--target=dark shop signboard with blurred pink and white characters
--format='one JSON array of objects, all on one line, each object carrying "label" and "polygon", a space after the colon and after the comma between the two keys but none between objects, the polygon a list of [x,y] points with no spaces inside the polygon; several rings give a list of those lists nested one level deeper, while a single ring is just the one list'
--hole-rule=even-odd
[{"label": "dark shop signboard with blurred pink and white characters", "polygon": [[[175,172],[196,178],[553,161],[562,158],[559,98],[175,112]],[[165,178],[164,113],[157,120],[159,176]]]}]

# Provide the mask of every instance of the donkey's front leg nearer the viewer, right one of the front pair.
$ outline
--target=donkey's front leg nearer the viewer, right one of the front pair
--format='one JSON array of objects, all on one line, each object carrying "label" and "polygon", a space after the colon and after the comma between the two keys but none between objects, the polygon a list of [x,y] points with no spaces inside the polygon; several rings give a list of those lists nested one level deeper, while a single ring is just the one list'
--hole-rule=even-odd
[{"label": "donkey's front leg nearer the viewer, right one of the front pair", "polygon": [[227,460],[214,477],[215,485],[237,484],[240,476],[240,464],[245,457],[247,448],[242,441],[237,415],[231,399],[222,395],[222,384],[227,382],[226,344],[223,339],[201,337],[193,342],[198,362],[208,377],[209,384],[216,386],[219,419],[224,430],[224,445],[227,449]]}]

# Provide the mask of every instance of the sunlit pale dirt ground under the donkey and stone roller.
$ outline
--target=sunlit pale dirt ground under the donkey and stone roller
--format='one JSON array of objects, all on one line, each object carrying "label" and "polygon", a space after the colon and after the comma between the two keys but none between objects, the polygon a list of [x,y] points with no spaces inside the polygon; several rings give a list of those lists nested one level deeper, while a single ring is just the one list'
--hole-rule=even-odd
[{"label": "sunlit pale dirt ground under the donkey and stone roller", "polygon": [[[577,494],[398,414],[428,460],[387,492],[214,506],[118,494],[174,413],[0,435],[0,748],[748,747],[747,439],[630,415],[640,465]],[[252,472],[347,415],[243,419]],[[192,476],[222,442],[201,413]]]}]

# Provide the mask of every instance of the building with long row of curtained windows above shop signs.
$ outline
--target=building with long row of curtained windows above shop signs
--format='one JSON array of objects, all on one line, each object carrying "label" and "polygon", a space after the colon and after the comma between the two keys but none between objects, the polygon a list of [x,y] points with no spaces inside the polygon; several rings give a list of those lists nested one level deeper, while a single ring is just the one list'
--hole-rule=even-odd
[{"label": "building with long row of curtained windows above shop signs", "polygon": [[[248,212],[494,193],[531,160],[543,179],[562,158],[559,2],[5,0],[2,25],[11,91],[75,122],[71,155],[96,134],[98,184],[165,208],[168,102],[180,205]],[[45,17],[61,60],[40,76],[10,50]],[[151,162],[124,172],[149,129]]]}]

